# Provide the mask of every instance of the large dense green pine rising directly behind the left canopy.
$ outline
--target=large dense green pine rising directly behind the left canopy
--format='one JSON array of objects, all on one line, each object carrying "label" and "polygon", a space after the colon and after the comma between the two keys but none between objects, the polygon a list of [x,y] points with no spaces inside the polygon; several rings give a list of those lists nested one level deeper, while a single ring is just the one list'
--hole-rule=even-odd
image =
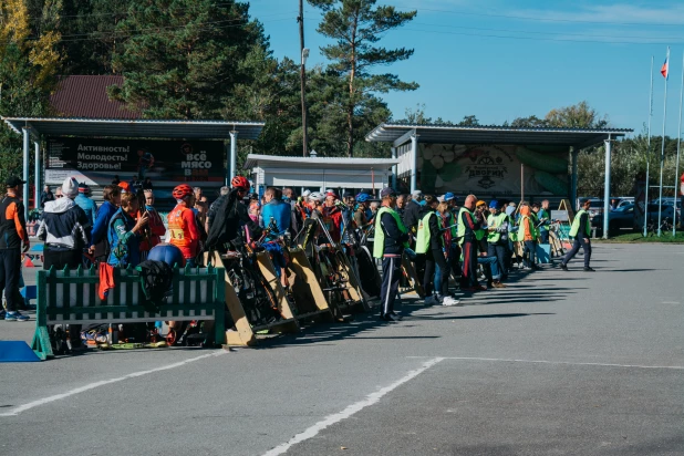
[{"label": "large dense green pine rising directly behind the left canopy", "polygon": [[219,118],[236,85],[253,80],[247,56],[268,50],[248,9],[215,0],[133,3],[116,27],[128,38],[113,55],[125,82],[110,95],[149,118]]}]

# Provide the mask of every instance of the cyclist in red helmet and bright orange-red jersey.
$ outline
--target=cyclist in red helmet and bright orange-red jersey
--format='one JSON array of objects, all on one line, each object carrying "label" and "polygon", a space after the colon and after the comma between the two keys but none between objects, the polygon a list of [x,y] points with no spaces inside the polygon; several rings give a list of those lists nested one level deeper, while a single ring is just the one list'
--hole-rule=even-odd
[{"label": "cyclist in red helmet and bright orange-red jersey", "polygon": [[169,243],[180,249],[187,265],[195,267],[199,242],[199,230],[191,209],[195,205],[195,194],[193,187],[182,184],[174,188],[172,195],[177,205],[167,216]]}]

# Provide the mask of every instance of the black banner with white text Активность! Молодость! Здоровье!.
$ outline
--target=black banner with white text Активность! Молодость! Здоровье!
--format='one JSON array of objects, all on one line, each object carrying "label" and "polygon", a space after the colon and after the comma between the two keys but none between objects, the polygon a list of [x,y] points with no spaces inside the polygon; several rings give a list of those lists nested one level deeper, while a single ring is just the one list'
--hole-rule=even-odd
[{"label": "black banner with white text \u0410\u043a\u0442\u0438\u0432\u043d\u043e\u0441\u0442\u044c! \u041c\u043e\u043b\u043e\u0434\u043e\u0441\u0442\u044c! \u0417\u0434\u043e\u0440\u043e\u0432\u044c\u0435!", "polygon": [[74,176],[89,185],[149,177],[158,185],[222,183],[225,147],[220,141],[146,141],[50,137],[46,184]]}]

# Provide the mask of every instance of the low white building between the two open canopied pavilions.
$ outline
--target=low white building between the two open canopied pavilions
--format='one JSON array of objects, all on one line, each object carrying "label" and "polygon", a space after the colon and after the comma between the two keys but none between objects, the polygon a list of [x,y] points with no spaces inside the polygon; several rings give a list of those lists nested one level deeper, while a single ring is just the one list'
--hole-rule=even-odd
[{"label": "low white building between the two open canopied pavilions", "polygon": [[[313,154],[314,155],[314,154]],[[245,168],[251,169],[257,191],[263,187],[292,187],[304,190],[338,191],[370,189],[374,195],[392,184],[392,167],[395,158],[329,158],[283,157],[278,155],[250,154]]]}]

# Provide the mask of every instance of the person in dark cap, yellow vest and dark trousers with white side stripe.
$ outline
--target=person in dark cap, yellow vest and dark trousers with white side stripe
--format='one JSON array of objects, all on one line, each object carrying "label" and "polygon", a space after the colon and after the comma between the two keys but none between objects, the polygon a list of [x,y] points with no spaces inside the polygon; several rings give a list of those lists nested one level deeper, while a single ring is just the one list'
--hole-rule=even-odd
[{"label": "person in dark cap, yellow vest and dark trousers with white side stripe", "polygon": [[408,247],[408,230],[396,211],[396,193],[391,187],[380,191],[382,206],[375,216],[375,242],[373,257],[382,259],[382,287],[380,291],[380,319],[398,321],[394,301],[402,277],[402,256]]}]

